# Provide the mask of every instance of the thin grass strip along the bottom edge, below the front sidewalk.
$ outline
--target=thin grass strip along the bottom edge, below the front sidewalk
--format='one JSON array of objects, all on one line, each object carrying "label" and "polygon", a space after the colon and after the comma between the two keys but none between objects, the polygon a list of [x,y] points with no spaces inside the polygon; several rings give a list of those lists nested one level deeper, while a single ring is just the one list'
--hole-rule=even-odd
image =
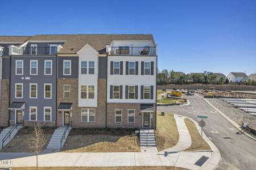
[{"label": "thin grass strip along the bottom edge, below the front sidewalk", "polygon": [[[35,170],[36,167],[14,167],[12,170]],[[149,170],[185,170],[185,168],[176,168],[176,167],[39,167],[39,170],[138,170],[138,169],[149,169]]]}]

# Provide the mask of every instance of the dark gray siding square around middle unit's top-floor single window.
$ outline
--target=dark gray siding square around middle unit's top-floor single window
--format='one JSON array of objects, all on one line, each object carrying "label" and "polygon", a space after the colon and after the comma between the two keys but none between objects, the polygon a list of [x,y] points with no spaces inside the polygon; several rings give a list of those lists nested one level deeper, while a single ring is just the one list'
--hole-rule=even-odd
[{"label": "dark gray siding square around middle unit's top-floor single window", "polygon": [[[63,75],[63,60],[71,60],[71,75]],[[79,57],[58,57],[58,78],[78,78]]]}]

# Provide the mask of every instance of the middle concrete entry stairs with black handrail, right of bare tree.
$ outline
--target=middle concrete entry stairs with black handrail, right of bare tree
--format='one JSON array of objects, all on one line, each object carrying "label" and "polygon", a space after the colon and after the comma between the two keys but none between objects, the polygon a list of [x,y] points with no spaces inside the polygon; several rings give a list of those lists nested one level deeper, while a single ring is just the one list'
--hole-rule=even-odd
[{"label": "middle concrete entry stairs with black handrail, right of bare tree", "polygon": [[[49,141],[49,143],[46,147],[46,151],[59,151],[60,150],[60,140],[61,140],[61,137],[62,137],[64,131],[65,131],[65,128],[66,127],[60,127],[60,128],[57,128],[54,131],[54,133],[52,134],[52,138],[51,138],[51,140]],[[61,148],[63,147],[63,145],[65,143],[65,140],[67,139],[69,131],[71,129],[72,129],[71,127],[68,128],[68,130],[65,134],[65,138],[62,142]]]}]

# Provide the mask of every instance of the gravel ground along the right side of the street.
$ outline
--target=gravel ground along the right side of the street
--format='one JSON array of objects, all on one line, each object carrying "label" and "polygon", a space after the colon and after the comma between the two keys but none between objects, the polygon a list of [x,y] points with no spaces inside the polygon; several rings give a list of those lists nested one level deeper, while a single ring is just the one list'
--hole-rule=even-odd
[{"label": "gravel ground along the right side of the street", "polygon": [[256,128],[256,116],[246,113],[221,99],[207,98],[207,100],[237,124],[242,125],[242,122],[246,122],[249,126]]}]

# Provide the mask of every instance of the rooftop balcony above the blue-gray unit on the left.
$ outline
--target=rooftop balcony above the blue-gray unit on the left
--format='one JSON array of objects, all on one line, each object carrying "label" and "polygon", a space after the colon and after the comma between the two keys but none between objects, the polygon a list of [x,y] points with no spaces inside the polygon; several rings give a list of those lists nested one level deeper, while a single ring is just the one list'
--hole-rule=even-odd
[{"label": "rooftop balcony above the blue-gray unit on the left", "polygon": [[9,46],[9,55],[55,55],[59,52],[62,46]]}]

